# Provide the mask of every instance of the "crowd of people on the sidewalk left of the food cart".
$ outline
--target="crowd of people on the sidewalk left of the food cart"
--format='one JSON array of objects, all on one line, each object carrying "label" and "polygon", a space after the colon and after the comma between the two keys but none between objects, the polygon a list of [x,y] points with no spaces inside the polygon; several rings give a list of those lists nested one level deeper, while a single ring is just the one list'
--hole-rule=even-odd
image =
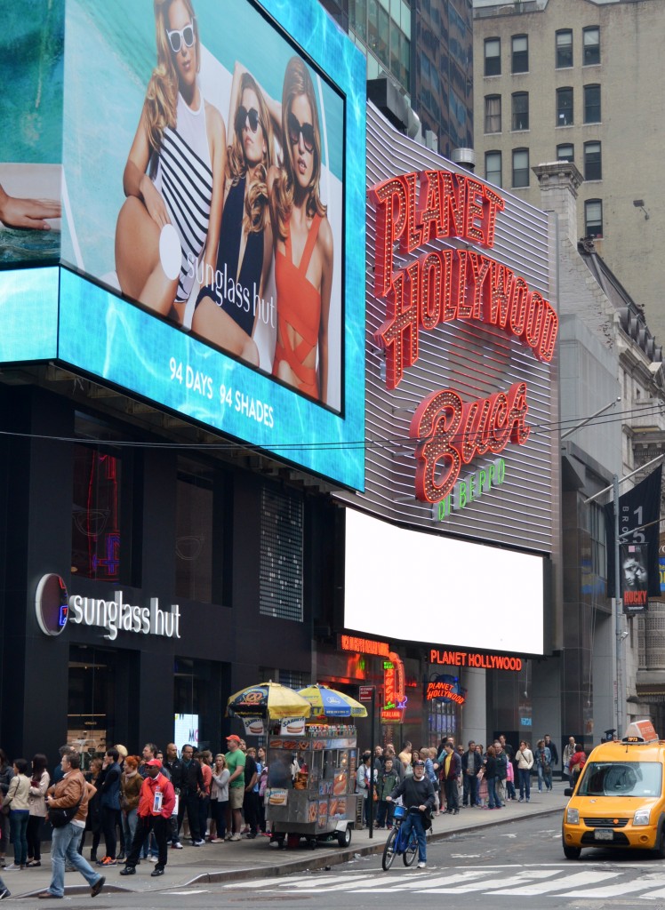
[{"label": "crowd of people on the sidewalk left of the food cart", "polygon": [[[140,756],[119,743],[105,753],[84,755],[64,745],[50,774],[46,755],[9,763],[0,749],[0,868],[20,872],[41,866],[48,823],[52,876],[38,897],[63,897],[65,873],[73,870],[84,876],[95,897],[106,882],[104,872],[114,866],[123,866],[120,875],[136,875],[143,859],[154,864],[150,875],[164,875],[169,844],[183,848],[181,832],[195,847],[266,834],[265,751],[248,748],[235,734],[226,745],[226,753],[214,758],[189,743],[180,752],[169,743],[164,753],[146,743]],[[88,835],[89,862],[83,855]],[[7,865],[10,836],[14,862]],[[9,896],[0,878],[0,900]]]}]

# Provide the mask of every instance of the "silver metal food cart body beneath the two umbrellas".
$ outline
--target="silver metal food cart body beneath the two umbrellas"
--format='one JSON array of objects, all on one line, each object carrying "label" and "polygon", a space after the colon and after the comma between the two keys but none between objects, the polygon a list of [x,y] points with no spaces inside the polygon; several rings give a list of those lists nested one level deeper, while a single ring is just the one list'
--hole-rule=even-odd
[{"label": "silver metal food cart body beneath the two umbrellas", "polygon": [[346,723],[293,724],[301,733],[268,736],[266,821],[272,841],[295,845],[302,838],[351,844],[355,821],[357,733]]}]

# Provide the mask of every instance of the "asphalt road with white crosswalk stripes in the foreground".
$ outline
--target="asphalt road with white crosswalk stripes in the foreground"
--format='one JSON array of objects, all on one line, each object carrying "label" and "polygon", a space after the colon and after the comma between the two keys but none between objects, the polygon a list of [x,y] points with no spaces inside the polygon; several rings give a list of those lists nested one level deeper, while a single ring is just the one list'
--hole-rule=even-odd
[{"label": "asphalt road with white crosswalk stripes in the foreground", "polygon": [[[270,905],[302,910],[308,906],[312,910],[347,910],[349,906],[354,910],[404,910],[404,905],[426,901],[428,905],[452,905],[455,910],[487,905],[493,910],[514,910],[517,905],[547,905],[547,910],[665,907],[665,862],[650,854],[608,850],[585,850],[578,862],[568,861],[561,851],[558,815],[454,834],[430,844],[427,860],[427,869],[416,871],[405,869],[398,857],[384,873],[380,855],[373,855],[329,871],[172,889],[164,882],[157,893],[102,893],[94,901],[89,896],[74,896],[65,898],[62,905],[87,910],[210,910],[211,906],[265,910]],[[20,905],[54,903],[27,898]]]}]

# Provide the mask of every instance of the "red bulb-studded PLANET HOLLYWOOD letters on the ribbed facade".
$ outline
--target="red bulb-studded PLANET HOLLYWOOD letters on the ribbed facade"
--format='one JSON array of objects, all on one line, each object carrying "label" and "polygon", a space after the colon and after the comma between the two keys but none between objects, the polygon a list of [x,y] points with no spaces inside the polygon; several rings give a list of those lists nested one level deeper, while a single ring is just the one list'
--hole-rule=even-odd
[{"label": "red bulb-studded PLANET HOLLYWOOD letters on the ribbed facade", "polygon": [[[420,180],[417,195],[416,179]],[[417,197],[417,199],[416,199]],[[418,330],[453,319],[505,329],[549,362],[558,316],[512,269],[474,250],[439,249],[394,272],[394,245],[403,254],[437,238],[459,237],[491,248],[504,200],[473,177],[423,171],[391,177],[369,190],[376,208],[374,293],[386,298],[375,335],[386,352],[386,386],[394,389],[418,359]]]}]

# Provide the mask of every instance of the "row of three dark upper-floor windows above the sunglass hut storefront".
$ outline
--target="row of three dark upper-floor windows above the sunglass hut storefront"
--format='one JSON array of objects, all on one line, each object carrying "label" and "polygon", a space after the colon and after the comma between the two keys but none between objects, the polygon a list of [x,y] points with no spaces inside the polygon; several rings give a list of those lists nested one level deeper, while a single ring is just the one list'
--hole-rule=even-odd
[{"label": "row of three dark upper-floor windows above the sunglass hut storefront", "polygon": [[[132,540],[140,536],[132,497],[140,486],[120,454],[74,446],[72,571],[77,577],[115,584],[140,582]],[[220,477],[207,465],[180,458],[176,481],[174,587],[177,597],[224,602]],[[257,542],[261,615],[302,622],[303,521],[299,496],[261,490],[261,540]],[[133,577],[136,575],[137,577]],[[228,582],[228,579],[227,579]]]}]

